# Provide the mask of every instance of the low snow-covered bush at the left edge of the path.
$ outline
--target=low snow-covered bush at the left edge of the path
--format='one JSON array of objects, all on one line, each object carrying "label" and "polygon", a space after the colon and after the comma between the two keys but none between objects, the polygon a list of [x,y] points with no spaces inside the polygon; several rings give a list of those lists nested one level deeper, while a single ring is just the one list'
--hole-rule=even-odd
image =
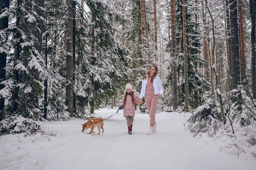
[{"label": "low snow-covered bush at the left edge of the path", "polygon": [[2,134],[27,133],[34,134],[41,130],[38,122],[20,115],[6,116],[0,121],[0,132]]}]

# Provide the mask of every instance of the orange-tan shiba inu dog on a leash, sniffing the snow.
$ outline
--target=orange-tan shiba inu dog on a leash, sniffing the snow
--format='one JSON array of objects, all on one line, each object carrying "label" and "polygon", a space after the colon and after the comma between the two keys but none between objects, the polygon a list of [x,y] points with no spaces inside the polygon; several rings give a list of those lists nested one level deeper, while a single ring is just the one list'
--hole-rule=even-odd
[{"label": "orange-tan shiba inu dog on a leash, sniffing the snow", "polygon": [[99,135],[100,134],[100,129],[102,129],[102,133],[104,133],[103,125],[104,125],[104,123],[102,121],[101,116],[99,118],[96,118],[96,119],[92,118],[89,121],[87,121],[87,123],[82,124],[82,126],[83,126],[82,132],[84,132],[84,130],[87,130],[87,129],[90,128],[91,130],[90,130],[90,133],[88,133],[88,134],[95,133],[95,132],[93,132],[93,129],[95,127],[97,127],[98,130],[99,130],[99,133],[98,133],[98,135]]}]

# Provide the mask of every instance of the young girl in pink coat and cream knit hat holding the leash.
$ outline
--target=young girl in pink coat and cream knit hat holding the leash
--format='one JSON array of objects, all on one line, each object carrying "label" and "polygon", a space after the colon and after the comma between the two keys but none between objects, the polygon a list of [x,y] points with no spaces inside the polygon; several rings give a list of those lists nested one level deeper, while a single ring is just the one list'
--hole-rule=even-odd
[{"label": "young girl in pink coat and cream knit hat holding the leash", "polygon": [[126,84],[124,97],[122,99],[122,103],[120,104],[121,109],[124,108],[124,117],[127,121],[128,126],[128,134],[132,132],[132,125],[134,122],[135,116],[135,103],[140,104],[139,97],[140,94],[138,92],[131,91],[132,86],[130,83]]}]

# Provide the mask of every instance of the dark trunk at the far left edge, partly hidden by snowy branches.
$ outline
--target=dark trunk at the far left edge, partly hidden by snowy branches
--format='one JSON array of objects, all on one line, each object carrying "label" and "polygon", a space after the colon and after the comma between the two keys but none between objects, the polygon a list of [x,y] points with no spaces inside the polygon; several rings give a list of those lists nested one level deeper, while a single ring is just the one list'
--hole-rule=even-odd
[{"label": "dark trunk at the far left edge, partly hidden by snowy branches", "polygon": [[[0,0],[0,11],[7,8],[9,9],[10,0]],[[0,18],[0,32],[6,28],[8,28],[9,23],[9,15]],[[2,39],[2,43],[6,43],[8,41],[8,35],[3,34],[4,38]],[[2,44],[1,44],[2,45]],[[0,52],[0,90],[3,89],[5,86],[1,84],[6,78],[6,59],[7,59],[7,52]],[[0,121],[3,119],[4,116],[4,98],[0,96]]]}]

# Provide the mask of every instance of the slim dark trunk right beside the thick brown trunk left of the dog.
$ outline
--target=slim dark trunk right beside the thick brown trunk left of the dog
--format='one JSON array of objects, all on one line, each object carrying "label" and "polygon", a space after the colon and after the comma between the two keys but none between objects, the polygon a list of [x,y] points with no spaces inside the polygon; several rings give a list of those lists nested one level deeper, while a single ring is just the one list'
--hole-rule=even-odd
[{"label": "slim dark trunk right beside the thick brown trunk left of the dog", "polygon": [[[73,86],[76,84],[76,1],[73,1]],[[73,91],[73,112],[76,114],[76,92]]]}]

